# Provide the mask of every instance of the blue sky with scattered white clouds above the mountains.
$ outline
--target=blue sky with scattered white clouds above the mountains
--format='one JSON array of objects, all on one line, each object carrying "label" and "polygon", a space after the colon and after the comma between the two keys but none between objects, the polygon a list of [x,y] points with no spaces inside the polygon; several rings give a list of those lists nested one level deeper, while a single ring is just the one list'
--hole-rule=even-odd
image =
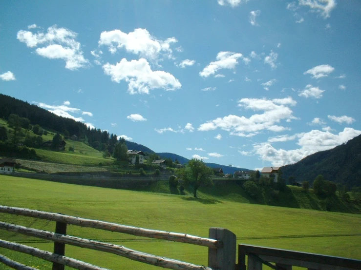
[{"label": "blue sky with scattered white clouds above the mountains", "polygon": [[0,92],[255,169],[361,134],[361,1],[4,1]]}]

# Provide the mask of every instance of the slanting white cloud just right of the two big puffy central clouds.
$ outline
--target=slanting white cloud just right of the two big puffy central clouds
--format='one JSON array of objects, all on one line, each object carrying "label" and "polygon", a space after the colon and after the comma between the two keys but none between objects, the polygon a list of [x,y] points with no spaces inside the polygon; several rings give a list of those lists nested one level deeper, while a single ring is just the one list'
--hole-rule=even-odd
[{"label": "slanting white cloud just right of the two big puffy central clouds", "polygon": [[201,77],[209,77],[220,69],[234,69],[238,64],[237,59],[241,58],[242,54],[232,52],[219,52],[216,61],[211,62],[203,71],[199,72]]}]

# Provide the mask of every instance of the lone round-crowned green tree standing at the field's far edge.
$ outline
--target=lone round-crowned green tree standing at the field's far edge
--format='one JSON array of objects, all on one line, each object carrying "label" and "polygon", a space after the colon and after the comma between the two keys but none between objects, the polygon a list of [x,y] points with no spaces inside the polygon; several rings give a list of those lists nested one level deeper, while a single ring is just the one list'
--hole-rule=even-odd
[{"label": "lone round-crowned green tree standing at the field's far edge", "polygon": [[192,158],[185,168],[179,170],[179,176],[193,188],[193,196],[197,197],[197,190],[201,185],[211,185],[212,168],[206,166],[203,159]]}]

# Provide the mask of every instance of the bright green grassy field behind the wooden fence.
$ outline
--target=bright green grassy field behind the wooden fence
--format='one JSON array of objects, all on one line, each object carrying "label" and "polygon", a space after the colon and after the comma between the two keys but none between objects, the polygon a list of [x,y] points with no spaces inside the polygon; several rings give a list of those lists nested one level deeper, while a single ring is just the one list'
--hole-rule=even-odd
[{"label": "bright green grassy field behind the wooden fence", "polygon": [[[112,190],[0,176],[0,204],[105,220],[143,228],[208,236],[210,227],[237,235],[237,243],[361,259],[361,215],[281,208],[232,201],[208,194],[189,196]],[[0,214],[0,220],[54,231],[54,222]],[[206,265],[207,248],[77,226],[68,234]],[[0,238],[52,251],[52,243],[0,231]],[[0,253],[39,269],[50,264],[1,249]],[[65,255],[109,269],[158,269],[129,259],[66,246]],[[1,268],[2,267],[2,268]],[[0,266],[0,269],[3,266]]]}]

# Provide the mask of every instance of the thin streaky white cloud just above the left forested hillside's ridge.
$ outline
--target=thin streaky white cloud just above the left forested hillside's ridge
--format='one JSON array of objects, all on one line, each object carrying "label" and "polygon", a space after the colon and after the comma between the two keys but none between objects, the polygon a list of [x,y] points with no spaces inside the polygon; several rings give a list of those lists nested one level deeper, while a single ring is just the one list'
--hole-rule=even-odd
[{"label": "thin streaky white cloud just above the left forested hillside's ridge", "polygon": [[[69,105],[70,105],[69,101],[64,101],[63,105],[48,105],[43,102],[33,102],[33,103],[43,109],[48,110],[49,112],[51,112],[57,116],[70,118],[70,119],[73,119],[78,122],[85,122],[85,120],[83,117],[76,117],[76,116],[71,115],[70,113],[93,116],[92,113],[83,112],[81,109],[69,107]],[[91,123],[85,123],[85,124],[88,126],[94,127]]]}]

